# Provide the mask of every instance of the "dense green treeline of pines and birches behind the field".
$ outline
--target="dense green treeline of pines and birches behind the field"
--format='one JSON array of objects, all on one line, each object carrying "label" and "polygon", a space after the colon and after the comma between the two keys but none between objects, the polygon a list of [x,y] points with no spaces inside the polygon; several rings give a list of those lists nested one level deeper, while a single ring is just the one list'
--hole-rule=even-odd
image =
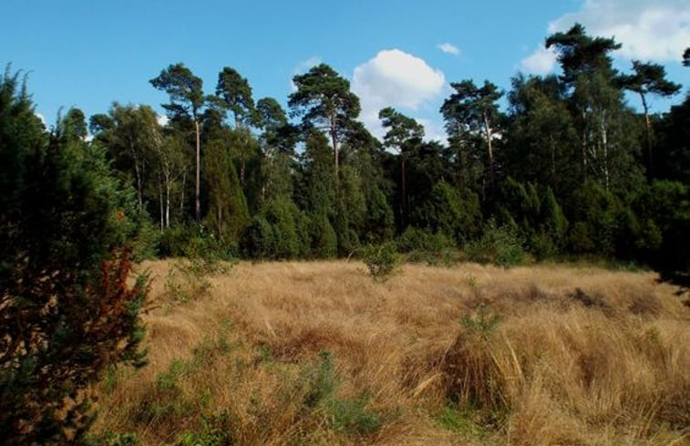
[{"label": "dense green treeline of pines and birches behind the field", "polygon": [[68,110],[52,138],[103,152],[133,188],[161,256],[185,254],[200,238],[223,255],[290,259],[387,241],[404,251],[463,249],[502,237],[536,258],[584,254],[685,270],[690,97],[650,114],[650,97],[682,86],[651,63],[618,72],[611,53],[620,45],[582,26],[546,46],[560,76],[519,74],[507,92],[488,80],[451,83],[439,110],[448,143],[426,141],[419,122],[391,108],[380,111],[386,135],[377,140],[357,120],[348,81],[324,64],[294,77],[289,110],[255,100],[232,67],[209,91],[188,67],[170,65],[150,80],[170,97],[165,124],[149,106],[116,102],[88,124]]}]

